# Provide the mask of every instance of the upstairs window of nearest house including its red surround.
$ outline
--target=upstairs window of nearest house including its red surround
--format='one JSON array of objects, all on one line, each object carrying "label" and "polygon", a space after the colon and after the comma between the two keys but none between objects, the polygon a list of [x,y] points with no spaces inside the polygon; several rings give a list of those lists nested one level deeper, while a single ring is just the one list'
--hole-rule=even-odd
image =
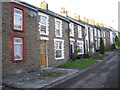
[{"label": "upstairs window of nearest house including its red surround", "polygon": [[25,30],[25,7],[14,4],[12,7],[12,29],[15,31]]}]

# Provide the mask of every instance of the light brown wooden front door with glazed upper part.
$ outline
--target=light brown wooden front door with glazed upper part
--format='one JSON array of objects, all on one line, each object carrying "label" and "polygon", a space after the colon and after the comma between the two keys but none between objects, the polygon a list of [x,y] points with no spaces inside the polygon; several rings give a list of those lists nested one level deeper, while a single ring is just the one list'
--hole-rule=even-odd
[{"label": "light brown wooden front door with glazed upper part", "polygon": [[40,41],[40,65],[41,67],[47,67],[46,41]]}]

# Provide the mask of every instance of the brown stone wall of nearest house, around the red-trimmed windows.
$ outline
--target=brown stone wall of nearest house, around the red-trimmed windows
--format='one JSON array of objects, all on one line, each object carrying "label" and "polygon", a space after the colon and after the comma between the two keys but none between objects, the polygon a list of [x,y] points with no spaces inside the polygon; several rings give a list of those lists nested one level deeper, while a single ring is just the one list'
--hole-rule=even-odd
[{"label": "brown stone wall of nearest house, around the red-trimmed windows", "polygon": [[[19,6],[19,5],[18,5]],[[2,70],[3,76],[10,74],[17,74],[20,72],[25,72],[36,66],[40,66],[39,56],[39,42],[37,40],[36,34],[38,33],[38,22],[37,17],[30,17],[30,12],[36,12],[32,9],[25,8],[25,30],[24,32],[14,31],[12,28],[12,8],[13,3],[4,2],[2,6],[2,32],[3,32],[3,58],[2,58]],[[37,12],[36,12],[37,13]],[[25,35],[25,61],[13,62],[11,60],[11,34],[22,34]]]}]

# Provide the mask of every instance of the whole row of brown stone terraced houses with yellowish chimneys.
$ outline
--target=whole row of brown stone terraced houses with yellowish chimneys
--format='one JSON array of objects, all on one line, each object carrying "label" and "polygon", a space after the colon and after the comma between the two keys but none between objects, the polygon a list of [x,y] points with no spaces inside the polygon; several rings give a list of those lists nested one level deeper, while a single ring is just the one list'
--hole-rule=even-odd
[{"label": "whole row of brown stone terraced houses with yellowish chimneys", "polygon": [[47,68],[96,52],[100,38],[109,49],[115,31],[95,25],[94,20],[73,18],[61,8],[60,14],[41,2],[40,8],[25,2],[2,2],[3,76],[19,74],[28,69]]}]

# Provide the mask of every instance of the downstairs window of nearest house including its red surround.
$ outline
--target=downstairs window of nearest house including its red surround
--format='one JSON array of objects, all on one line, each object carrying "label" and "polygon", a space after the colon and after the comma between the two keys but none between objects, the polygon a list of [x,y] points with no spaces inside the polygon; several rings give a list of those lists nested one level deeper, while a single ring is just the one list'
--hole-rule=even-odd
[{"label": "downstairs window of nearest house including its red surround", "polygon": [[14,62],[25,61],[25,35],[11,34],[11,59]]}]

